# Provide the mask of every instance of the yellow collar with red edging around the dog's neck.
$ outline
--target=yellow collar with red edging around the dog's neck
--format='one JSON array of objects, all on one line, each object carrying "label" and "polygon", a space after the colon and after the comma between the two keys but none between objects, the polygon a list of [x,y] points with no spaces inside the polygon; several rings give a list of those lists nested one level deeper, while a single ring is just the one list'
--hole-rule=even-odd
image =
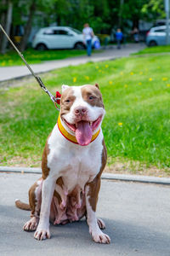
[{"label": "yellow collar with red edging around the dog's neck", "polygon": [[[59,131],[60,133],[68,140],[70,141],[71,143],[77,143],[77,138],[74,136],[74,135],[71,135],[71,133],[69,133],[68,131],[65,130],[65,127],[61,124],[61,119],[60,119],[60,114],[59,114],[59,117],[58,117],[58,127],[59,127]],[[100,129],[99,129],[100,131]],[[96,139],[96,137],[98,137],[99,135],[99,131],[97,131],[96,133],[94,133],[94,135],[92,136],[92,139],[91,139],[91,142],[94,142],[94,140]]]}]

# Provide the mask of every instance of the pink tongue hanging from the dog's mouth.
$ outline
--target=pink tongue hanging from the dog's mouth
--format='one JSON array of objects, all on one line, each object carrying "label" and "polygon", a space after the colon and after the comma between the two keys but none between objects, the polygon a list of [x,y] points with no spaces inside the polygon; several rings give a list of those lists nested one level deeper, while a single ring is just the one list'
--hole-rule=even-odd
[{"label": "pink tongue hanging from the dog's mouth", "polygon": [[76,138],[81,146],[86,146],[91,142],[92,129],[90,128],[89,122],[80,121],[77,123]]}]

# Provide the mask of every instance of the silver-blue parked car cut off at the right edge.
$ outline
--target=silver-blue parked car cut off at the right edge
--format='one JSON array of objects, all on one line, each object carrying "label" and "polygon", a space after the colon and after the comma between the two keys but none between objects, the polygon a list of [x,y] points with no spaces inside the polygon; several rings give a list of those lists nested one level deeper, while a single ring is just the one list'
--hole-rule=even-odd
[{"label": "silver-blue parked car cut off at the right edge", "polygon": [[[170,30],[169,30],[170,38]],[[166,44],[166,26],[155,26],[150,28],[146,35],[146,44],[148,46],[165,45]]]}]

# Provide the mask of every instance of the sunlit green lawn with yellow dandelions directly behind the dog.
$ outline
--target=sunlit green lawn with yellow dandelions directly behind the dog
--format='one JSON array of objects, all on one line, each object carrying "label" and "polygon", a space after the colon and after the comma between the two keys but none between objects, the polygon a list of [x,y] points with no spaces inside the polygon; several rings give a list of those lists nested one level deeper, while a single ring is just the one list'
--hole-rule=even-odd
[{"label": "sunlit green lawn with yellow dandelions directly behind the dog", "polygon": [[[61,84],[99,83],[110,161],[138,161],[170,174],[168,55],[89,62],[43,74],[42,80],[52,92],[60,90]],[[17,87],[16,81],[15,85],[1,90],[1,165],[22,159],[26,165],[35,166],[58,112],[36,82]]]}]

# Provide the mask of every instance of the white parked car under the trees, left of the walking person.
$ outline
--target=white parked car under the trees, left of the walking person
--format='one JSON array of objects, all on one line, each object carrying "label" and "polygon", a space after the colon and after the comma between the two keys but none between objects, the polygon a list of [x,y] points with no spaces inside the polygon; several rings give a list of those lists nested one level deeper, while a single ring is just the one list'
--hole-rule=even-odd
[{"label": "white parked car under the trees, left of the walking person", "polygon": [[[92,46],[99,41],[94,36]],[[49,26],[40,29],[32,41],[34,49],[85,49],[82,32],[69,26]]]}]

